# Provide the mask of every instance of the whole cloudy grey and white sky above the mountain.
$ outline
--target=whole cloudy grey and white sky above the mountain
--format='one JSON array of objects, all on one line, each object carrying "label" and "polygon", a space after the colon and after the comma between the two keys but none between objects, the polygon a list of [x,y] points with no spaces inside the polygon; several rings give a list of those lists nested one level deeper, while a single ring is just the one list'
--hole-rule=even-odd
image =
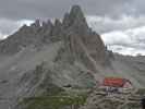
[{"label": "whole cloudy grey and white sky above the mountain", "polygon": [[62,19],[80,4],[88,25],[114,52],[145,55],[144,0],[0,0],[0,38],[36,19]]}]

